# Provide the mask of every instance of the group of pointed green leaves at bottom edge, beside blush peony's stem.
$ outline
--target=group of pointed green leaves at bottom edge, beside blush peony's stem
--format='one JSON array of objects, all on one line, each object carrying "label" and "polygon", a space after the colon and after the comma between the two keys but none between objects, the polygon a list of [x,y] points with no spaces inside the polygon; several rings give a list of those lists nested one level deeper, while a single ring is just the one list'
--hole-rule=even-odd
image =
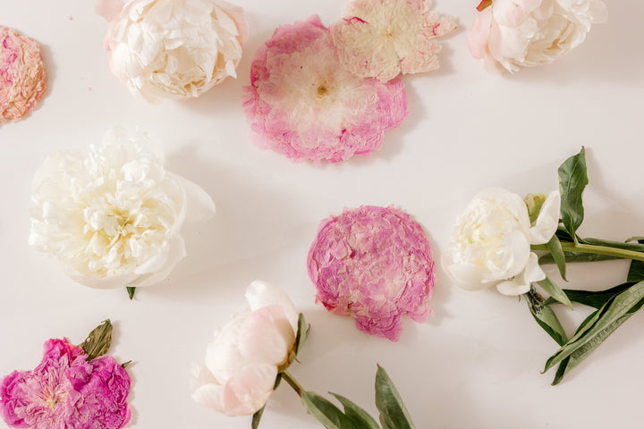
[{"label": "group of pointed green leaves at bottom edge, beside blush peony's stem", "polygon": [[[381,366],[377,369],[375,388],[376,407],[380,412],[382,429],[414,429],[400,393]],[[309,410],[309,414],[316,417],[327,429],[380,429],[376,419],[369,416],[363,408],[343,396],[331,394],[342,404],[343,410],[312,391],[306,391],[301,395],[302,403]]]}]

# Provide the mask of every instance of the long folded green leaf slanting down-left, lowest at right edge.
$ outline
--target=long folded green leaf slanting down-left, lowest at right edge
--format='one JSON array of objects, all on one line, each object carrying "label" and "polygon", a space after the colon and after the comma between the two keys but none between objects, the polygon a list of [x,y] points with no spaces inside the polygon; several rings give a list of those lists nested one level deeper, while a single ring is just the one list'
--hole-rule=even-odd
[{"label": "long folded green leaf slanting down-left, lowest at right edge", "polygon": [[[643,301],[640,303],[640,301]],[[589,318],[586,326],[576,333],[555,355],[547,360],[544,372],[571,357],[570,369],[589,355],[623,322],[644,304],[644,282],[639,282],[610,299],[597,314]],[[626,317],[624,317],[626,315]],[[572,356],[572,354],[575,354]]]}]

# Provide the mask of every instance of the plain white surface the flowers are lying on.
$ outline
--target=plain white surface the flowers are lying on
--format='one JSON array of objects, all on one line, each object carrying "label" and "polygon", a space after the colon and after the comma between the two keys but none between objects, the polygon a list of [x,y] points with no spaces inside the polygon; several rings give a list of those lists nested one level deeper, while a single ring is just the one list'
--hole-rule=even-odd
[{"label": "plain white surface the flowers are lying on", "polygon": [[[292,164],[254,147],[240,97],[250,63],[279,24],[319,13],[338,19],[345,0],[237,0],[251,34],[238,80],[199,99],[148,105],[110,74],[101,44],[106,22],[93,2],[3,2],[0,24],[44,49],[46,97],[22,122],[0,128],[0,374],[31,369],[48,338],[79,343],[114,322],[110,352],[133,360],[132,428],[248,428],[190,398],[191,363],[216,326],[245,307],[254,279],[287,290],[312,324],[292,374],[312,391],[335,391],[375,412],[376,364],[394,379],[419,429],[640,427],[644,314],[634,315],[564,382],[539,370],[556,349],[524,302],[495,291],[466,292],[438,268],[434,315],[406,320],[398,343],[370,337],[351,319],[314,302],[305,259],[318,223],[344,206],[399,206],[428,231],[436,260],[453,223],[479,190],[547,192],[556,168],[588,149],[589,188],[582,236],[624,240],[644,234],[641,181],[644,3],[609,4],[610,19],[559,62],[490,76],[470,58],[467,28],[476,0],[436,0],[458,17],[440,71],[405,77],[409,115],[376,154],[340,164]],[[156,137],[166,167],[215,199],[214,220],[185,234],[188,257],[171,278],[128,300],[125,290],[90,290],[27,246],[30,181],[47,153],[97,144],[114,124]],[[567,287],[623,282],[619,262],[570,266]],[[550,274],[555,274],[549,271]],[[563,316],[570,331],[588,314]],[[0,427],[4,427],[0,423]],[[283,383],[269,400],[264,428],[319,428]]]}]

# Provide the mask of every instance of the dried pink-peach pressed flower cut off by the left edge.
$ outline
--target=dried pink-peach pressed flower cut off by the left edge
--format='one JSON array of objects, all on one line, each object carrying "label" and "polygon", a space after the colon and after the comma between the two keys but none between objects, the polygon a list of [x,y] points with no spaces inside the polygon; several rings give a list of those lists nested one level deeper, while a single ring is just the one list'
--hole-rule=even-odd
[{"label": "dried pink-peach pressed flower cut off by the left edge", "polygon": [[0,26],[0,124],[30,113],[46,90],[38,43]]}]

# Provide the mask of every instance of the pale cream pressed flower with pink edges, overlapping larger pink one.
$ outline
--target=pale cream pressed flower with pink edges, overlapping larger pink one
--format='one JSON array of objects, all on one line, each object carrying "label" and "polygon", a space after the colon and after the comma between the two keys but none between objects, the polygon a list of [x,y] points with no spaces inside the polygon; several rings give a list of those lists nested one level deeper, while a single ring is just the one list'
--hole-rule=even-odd
[{"label": "pale cream pressed flower with pink edges, overlapping larger pink one", "polygon": [[343,67],[383,82],[436,70],[436,38],[455,28],[453,18],[429,9],[428,0],[353,0],[330,27]]}]

